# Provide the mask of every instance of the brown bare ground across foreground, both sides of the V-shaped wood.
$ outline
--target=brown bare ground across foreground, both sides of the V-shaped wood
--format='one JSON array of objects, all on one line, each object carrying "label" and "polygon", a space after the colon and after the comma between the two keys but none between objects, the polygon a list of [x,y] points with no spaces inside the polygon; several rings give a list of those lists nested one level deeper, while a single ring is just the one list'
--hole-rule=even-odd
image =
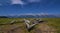
[{"label": "brown bare ground across foreground, both sides of the V-shaped wood", "polygon": [[0,27],[0,33],[55,33],[55,29],[46,23],[39,23],[36,29],[34,28],[31,32],[27,31],[24,24],[19,23]]}]

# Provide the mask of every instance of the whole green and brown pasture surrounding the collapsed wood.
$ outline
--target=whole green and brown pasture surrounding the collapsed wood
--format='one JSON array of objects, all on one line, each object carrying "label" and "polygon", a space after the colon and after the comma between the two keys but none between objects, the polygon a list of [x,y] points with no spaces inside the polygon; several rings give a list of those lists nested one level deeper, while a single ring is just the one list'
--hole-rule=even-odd
[{"label": "whole green and brown pasture surrounding the collapsed wood", "polygon": [[[39,18],[44,22],[37,24],[30,32],[27,31],[25,23],[22,21],[23,19],[24,18],[0,18],[0,33],[46,33],[47,30],[52,31],[52,33],[60,33],[60,18]],[[34,18],[26,19],[31,22],[34,21]],[[16,20],[16,23],[10,25],[12,20]],[[47,33],[49,32],[47,31]]]}]

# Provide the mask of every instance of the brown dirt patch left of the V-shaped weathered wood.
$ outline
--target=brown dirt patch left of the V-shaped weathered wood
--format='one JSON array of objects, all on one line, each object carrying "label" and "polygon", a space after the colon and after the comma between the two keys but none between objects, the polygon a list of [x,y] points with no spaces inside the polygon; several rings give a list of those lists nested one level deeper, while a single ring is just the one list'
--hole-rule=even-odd
[{"label": "brown dirt patch left of the V-shaped weathered wood", "polygon": [[0,33],[25,33],[24,24],[2,25]]}]

